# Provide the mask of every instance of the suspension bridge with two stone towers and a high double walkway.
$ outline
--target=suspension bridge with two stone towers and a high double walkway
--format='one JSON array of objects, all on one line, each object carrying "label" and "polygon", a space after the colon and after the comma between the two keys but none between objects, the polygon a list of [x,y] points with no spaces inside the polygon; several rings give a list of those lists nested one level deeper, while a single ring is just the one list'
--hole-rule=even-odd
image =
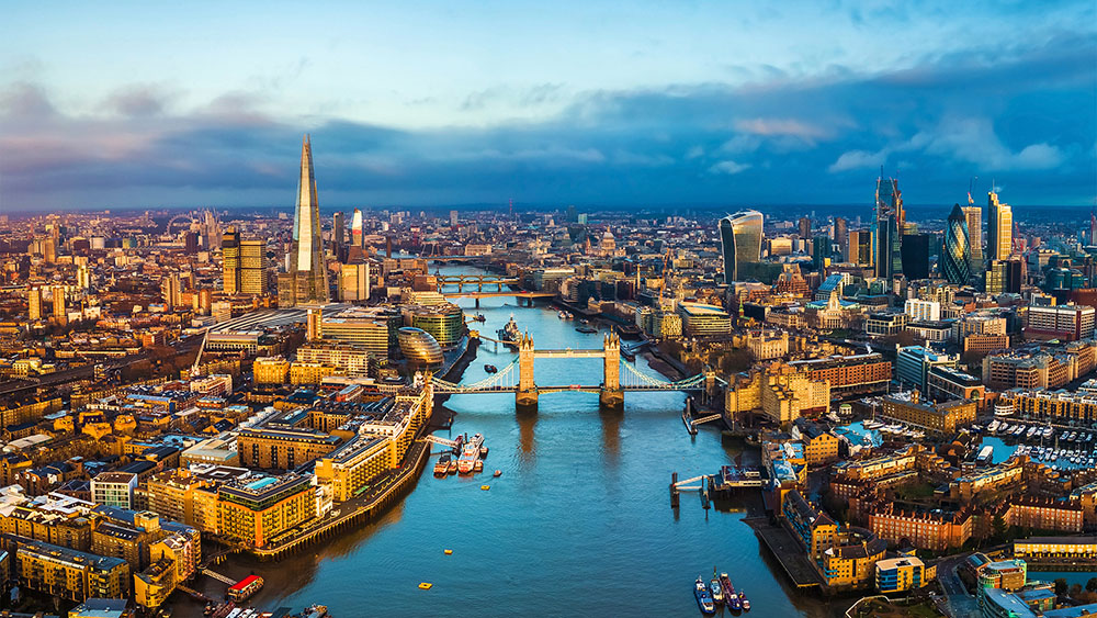
[{"label": "suspension bridge with two stone towers and a high double walkway", "polygon": [[[518,358],[507,367],[475,382],[473,384],[454,384],[441,378],[431,378],[436,394],[473,394],[473,393],[514,393],[514,404],[519,411],[534,411],[538,400],[543,394],[581,392],[598,393],[598,402],[603,408],[621,409],[624,406],[625,392],[644,391],[681,391],[701,392],[705,395],[714,392],[717,384],[726,385],[726,381],[708,370],[690,378],[669,382],[653,378],[632,363],[623,364],[622,375],[621,339],[617,335],[606,335],[601,349],[563,349],[539,350],[529,335],[520,335],[514,341],[518,347]],[[536,359],[602,359],[602,382],[600,384],[536,384],[533,380],[533,366]],[[623,379],[622,379],[623,378]]]}]

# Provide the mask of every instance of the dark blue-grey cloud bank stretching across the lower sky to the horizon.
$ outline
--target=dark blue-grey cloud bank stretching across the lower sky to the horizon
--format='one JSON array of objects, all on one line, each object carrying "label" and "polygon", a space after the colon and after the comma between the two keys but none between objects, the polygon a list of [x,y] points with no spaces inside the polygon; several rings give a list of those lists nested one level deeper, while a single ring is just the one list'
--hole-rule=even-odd
[{"label": "dark blue-grey cloud bank stretching across the lower sky to the horizon", "polygon": [[[558,85],[478,92],[531,104]],[[34,83],[0,92],[0,210],[269,205],[293,195],[301,134],[227,93],[173,113],[177,92],[134,85],[102,115],[60,114]],[[912,203],[951,203],[995,177],[1014,203],[1097,195],[1097,37],[927,59],[880,75],[730,87],[593,91],[548,121],[405,131],[308,123],[329,206],[505,202],[857,203],[880,166]],[[985,187],[984,187],[985,189]]]}]

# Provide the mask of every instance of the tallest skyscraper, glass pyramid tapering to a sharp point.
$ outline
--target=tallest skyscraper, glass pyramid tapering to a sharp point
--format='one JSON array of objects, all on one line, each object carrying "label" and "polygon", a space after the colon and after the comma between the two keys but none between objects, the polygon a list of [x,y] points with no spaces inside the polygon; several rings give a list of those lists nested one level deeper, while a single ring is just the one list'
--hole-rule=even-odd
[{"label": "tallest skyscraper, glass pyramid tapering to a sharp point", "polygon": [[313,149],[307,135],[301,142],[301,176],[289,266],[289,277],[279,277],[279,306],[328,302],[328,273],[324,268],[324,246],[320,243],[320,209],[316,200]]}]

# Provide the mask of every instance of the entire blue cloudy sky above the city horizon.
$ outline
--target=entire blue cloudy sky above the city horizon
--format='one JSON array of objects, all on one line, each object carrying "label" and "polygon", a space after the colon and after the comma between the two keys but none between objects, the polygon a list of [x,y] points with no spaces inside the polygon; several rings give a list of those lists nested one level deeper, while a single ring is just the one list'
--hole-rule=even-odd
[{"label": "entire blue cloudy sky above the city horizon", "polygon": [[[321,5],[323,4],[323,5]],[[1097,2],[0,0],[0,212],[1097,204]]]}]

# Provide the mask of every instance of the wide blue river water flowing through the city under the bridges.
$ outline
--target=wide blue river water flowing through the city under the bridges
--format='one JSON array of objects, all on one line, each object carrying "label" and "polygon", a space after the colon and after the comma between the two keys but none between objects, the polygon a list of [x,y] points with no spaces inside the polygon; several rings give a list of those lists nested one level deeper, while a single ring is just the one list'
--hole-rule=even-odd
[{"label": "wide blue river water flowing through the city under the bridges", "polygon": [[[479,310],[461,303],[486,316],[476,325],[485,334],[494,335],[513,314],[538,347],[601,347],[601,332],[577,333],[576,322],[559,319],[550,307],[518,307],[513,299],[484,300]],[[482,380],[485,363],[501,370],[513,358],[485,342],[462,381]],[[636,362],[654,374],[643,358]],[[598,384],[601,373],[600,359],[546,359],[538,361],[535,380]],[[688,494],[678,513],[670,508],[671,472],[682,479],[713,473],[742,452],[723,445],[715,427],[691,438],[680,418],[680,393],[630,393],[617,414],[599,412],[597,394],[573,392],[542,395],[539,411],[522,415],[513,394],[456,395],[445,406],[456,413],[452,436],[485,436],[490,454],[484,474],[437,479],[432,459],[403,503],[361,529],[280,563],[236,557],[217,571],[263,575],[267,586],[251,600],[259,607],[299,610],[321,603],[338,618],[697,616],[693,580],[708,580],[715,566],[746,592],[748,615],[833,614],[829,604],[790,588],[742,523],[758,514],[757,495],[705,512]],[[748,462],[756,457],[745,453]],[[493,479],[496,469],[502,475]],[[446,549],[453,553],[445,555]],[[419,589],[420,582],[433,587]],[[207,577],[196,587],[218,597],[224,591]],[[193,610],[177,605],[177,616]]]}]

